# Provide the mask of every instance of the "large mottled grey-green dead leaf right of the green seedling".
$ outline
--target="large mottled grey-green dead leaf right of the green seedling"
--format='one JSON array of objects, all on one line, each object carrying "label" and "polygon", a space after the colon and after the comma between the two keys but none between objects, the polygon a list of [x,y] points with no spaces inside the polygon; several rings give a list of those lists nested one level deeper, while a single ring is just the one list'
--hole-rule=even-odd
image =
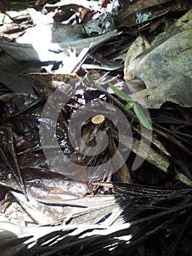
[{"label": "large mottled grey-green dead leaf right of the green seedling", "polygon": [[131,75],[141,78],[147,87],[131,94],[134,100],[143,99],[147,108],[160,108],[166,101],[191,107],[191,39],[191,29],[182,31],[134,59],[139,63]]}]

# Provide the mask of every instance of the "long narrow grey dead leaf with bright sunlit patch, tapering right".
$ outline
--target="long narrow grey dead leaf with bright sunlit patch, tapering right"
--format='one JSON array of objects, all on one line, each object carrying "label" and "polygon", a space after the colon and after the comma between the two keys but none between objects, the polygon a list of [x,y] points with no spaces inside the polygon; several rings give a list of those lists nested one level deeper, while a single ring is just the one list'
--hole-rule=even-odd
[{"label": "long narrow grey dead leaf with bright sunlit patch, tapering right", "polygon": [[91,44],[92,48],[94,48],[101,45],[103,42],[116,37],[118,34],[120,33],[112,31],[98,37],[89,37],[58,43],[47,42],[46,44],[42,44],[38,39],[34,44],[0,42],[0,48],[17,61],[63,61],[64,58],[68,56],[69,47],[73,47],[77,51],[77,54],[79,54],[83,48],[89,48]]}]

